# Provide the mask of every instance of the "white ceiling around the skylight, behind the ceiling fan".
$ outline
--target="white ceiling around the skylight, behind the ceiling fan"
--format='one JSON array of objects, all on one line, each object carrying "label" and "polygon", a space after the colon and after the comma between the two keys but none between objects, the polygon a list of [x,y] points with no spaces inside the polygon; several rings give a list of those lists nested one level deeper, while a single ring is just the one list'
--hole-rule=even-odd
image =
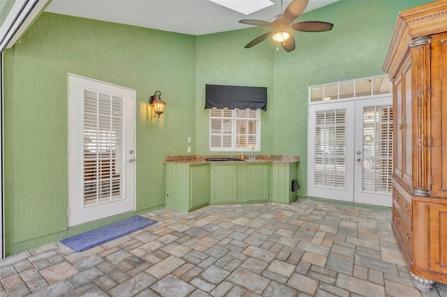
[{"label": "white ceiling around the skylight, behind the ceiling fan", "polygon": [[[336,1],[338,0],[309,0],[305,13]],[[270,21],[274,15],[281,13],[281,1],[272,2],[274,5],[250,15],[237,13],[208,0],[52,0],[45,11],[203,35],[250,27],[238,22],[242,19]],[[289,3],[291,0],[284,0],[283,11]]]}]

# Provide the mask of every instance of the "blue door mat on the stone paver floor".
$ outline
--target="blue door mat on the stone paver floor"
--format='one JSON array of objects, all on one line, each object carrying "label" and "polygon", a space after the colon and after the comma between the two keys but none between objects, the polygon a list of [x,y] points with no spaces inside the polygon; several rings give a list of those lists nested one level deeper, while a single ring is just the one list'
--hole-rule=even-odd
[{"label": "blue door mat on the stone paver floor", "polygon": [[154,220],[137,215],[98,229],[62,239],[61,243],[64,243],[64,245],[75,252],[82,252],[155,223],[156,221]]}]

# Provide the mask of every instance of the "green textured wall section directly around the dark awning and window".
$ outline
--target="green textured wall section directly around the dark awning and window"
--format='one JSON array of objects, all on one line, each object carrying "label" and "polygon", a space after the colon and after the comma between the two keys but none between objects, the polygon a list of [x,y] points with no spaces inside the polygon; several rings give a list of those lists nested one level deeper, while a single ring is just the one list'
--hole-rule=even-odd
[{"label": "green textured wall section directly around the dark awning and window", "polygon": [[[245,49],[249,41],[265,33],[253,28],[197,36],[196,41],[196,153],[210,153],[209,109],[205,109],[205,84],[267,86],[267,112],[261,111],[261,153],[272,153],[273,48],[268,43]],[[240,153],[240,152],[239,152]]]}]

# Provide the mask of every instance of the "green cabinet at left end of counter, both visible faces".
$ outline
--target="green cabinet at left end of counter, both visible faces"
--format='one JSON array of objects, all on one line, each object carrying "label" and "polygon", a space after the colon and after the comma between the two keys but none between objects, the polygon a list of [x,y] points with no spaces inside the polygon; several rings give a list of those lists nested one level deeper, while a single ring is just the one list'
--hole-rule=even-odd
[{"label": "green cabinet at left end of counter, both visible faces", "polygon": [[210,165],[166,164],[166,207],[189,212],[209,200]]}]

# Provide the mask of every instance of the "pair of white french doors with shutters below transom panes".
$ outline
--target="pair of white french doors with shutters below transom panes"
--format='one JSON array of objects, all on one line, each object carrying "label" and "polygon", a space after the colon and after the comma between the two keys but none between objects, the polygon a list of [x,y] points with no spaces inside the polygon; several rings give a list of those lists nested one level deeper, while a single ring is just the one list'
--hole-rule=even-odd
[{"label": "pair of white french doors with shutters below transom panes", "polygon": [[392,98],[309,105],[307,195],[391,206]]}]

